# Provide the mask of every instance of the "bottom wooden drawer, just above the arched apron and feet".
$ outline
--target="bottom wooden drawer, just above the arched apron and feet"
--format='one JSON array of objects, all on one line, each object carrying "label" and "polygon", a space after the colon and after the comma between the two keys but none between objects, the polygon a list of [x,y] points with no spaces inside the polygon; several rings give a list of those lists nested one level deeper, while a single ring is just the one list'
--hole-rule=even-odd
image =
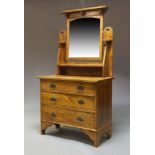
[{"label": "bottom wooden drawer, just above the arched apron and feet", "polygon": [[43,105],[41,108],[41,119],[52,121],[54,123],[63,123],[84,128],[95,127],[95,115],[67,109],[53,108],[52,106]]}]

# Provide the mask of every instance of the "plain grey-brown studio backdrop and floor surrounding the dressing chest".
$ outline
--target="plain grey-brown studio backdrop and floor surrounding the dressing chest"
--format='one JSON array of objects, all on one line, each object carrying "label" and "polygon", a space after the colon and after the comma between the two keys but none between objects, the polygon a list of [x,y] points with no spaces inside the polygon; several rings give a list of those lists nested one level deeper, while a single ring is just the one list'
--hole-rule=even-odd
[{"label": "plain grey-brown studio backdrop and floor surrounding the dressing chest", "polygon": [[[113,136],[94,148],[79,130],[51,127],[40,135],[38,75],[54,74],[62,10],[107,5],[105,25],[114,29]],[[128,155],[130,135],[130,1],[25,0],[25,155]]]}]

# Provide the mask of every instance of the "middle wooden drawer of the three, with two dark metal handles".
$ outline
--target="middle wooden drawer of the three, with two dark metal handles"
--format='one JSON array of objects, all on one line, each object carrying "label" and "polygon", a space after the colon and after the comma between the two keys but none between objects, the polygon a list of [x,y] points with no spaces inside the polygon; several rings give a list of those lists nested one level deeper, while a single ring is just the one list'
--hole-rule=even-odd
[{"label": "middle wooden drawer of the three, with two dark metal handles", "polygon": [[41,92],[41,104],[95,110],[95,97]]}]

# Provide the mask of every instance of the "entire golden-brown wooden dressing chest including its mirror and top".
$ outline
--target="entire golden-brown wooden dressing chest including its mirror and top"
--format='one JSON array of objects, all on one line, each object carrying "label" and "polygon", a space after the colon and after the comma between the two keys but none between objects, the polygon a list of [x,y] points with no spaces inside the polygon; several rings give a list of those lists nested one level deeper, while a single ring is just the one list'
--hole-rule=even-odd
[{"label": "entire golden-brown wooden dressing chest including its mirror and top", "polygon": [[106,6],[63,11],[56,75],[39,76],[41,133],[67,125],[94,142],[111,137],[113,30],[103,27]]}]

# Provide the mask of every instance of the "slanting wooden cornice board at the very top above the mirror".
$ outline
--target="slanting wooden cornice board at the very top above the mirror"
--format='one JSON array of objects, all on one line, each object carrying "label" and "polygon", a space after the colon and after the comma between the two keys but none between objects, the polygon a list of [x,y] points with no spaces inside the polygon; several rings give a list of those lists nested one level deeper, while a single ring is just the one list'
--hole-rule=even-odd
[{"label": "slanting wooden cornice board at the very top above the mirror", "polygon": [[67,13],[74,13],[74,12],[79,12],[79,11],[91,11],[91,10],[97,10],[97,9],[107,9],[107,6],[102,5],[102,6],[96,6],[96,7],[87,7],[87,8],[81,8],[81,9],[72,9],[72,10],[65,10],[62,11],[62,14],[67,14]]}]

